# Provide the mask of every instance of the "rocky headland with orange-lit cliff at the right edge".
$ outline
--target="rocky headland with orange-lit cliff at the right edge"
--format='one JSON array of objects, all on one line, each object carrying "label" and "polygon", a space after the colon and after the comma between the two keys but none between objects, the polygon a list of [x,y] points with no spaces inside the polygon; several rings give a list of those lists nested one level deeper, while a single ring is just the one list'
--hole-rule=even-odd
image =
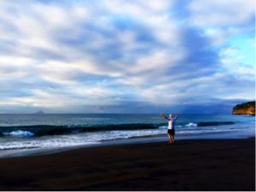
[{"label": "rocky headland with orange-lit cliff at the right edge", "polygon": [[255,101],[236,104],[236,106],[232,110],[232,114],[255,116]]}]

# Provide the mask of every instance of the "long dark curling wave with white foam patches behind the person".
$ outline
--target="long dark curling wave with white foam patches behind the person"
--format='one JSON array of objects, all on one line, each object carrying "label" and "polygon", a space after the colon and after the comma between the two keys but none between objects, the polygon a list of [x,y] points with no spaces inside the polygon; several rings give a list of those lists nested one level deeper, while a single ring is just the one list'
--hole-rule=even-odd
[{"label": "long dark curling wave with white foam patches behind the person", "polygon": [[[208,121],[208,122],[189,122],[187,124],[177,124],[176,128],[193,128],[193,127],[208,127],[231,125],[233,121]],[[166,123],[160,124],[116,124],[116,125],[95,125],[95,126],[52,126],[52,125],[34,125],[34,126],[13,126],[0,127],[0,136],[12,137],[41,137],[46,135],[62,135],[70,133],[84,133],[84,132],[102,132],[102,131],[123,131],[123,130],[142,130],[142,129],[164,129]]]}]

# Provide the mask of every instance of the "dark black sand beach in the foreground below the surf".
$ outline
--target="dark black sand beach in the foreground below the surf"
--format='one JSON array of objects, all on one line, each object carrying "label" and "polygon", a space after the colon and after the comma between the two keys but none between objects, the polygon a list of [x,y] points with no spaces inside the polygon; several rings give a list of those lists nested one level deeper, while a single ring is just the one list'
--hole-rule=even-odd
[{"label": "dark black sand beach in the foreground below the surf", "polygon": [[1,190],[255,190],[255,140],[122,144],[0,159]]}]

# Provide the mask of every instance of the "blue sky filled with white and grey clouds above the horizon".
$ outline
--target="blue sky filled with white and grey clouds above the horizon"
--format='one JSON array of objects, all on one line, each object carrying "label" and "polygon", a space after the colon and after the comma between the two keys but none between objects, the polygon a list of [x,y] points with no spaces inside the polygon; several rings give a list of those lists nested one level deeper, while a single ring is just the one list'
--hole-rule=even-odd
[{"label": "blue sky filled with white and grey clouds above the horizon", "polygon": [[0,113],[225,113],[255,98],[253,0],[1,0]]}]

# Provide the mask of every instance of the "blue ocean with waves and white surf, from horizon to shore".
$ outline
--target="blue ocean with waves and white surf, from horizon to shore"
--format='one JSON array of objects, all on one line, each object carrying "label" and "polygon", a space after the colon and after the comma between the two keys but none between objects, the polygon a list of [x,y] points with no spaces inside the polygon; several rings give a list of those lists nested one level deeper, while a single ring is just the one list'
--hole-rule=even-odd
[{"label": "blue ocean with waves and white surf, from horizon to shore", "polygon": [[[2,114],[0,157],[6,151],[49,150],[166,136],[166,129],[167,121],[159,114]],[[252,136],[254,116],[179,114],[176,121],[177,139]]]}]

